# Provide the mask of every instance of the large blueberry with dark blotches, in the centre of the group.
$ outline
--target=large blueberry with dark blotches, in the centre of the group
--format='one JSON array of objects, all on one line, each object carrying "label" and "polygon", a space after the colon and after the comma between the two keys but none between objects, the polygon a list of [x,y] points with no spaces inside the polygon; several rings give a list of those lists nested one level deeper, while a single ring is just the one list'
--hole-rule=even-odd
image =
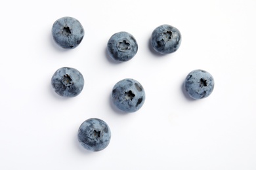
[{"label": "large blueberry with dark blotches, in the centre of the group", "polygon": [[114,86],[112,99],[118,109],[124,112],[136,112],[144,104],[144,88],[137,80],[125,78]]}]

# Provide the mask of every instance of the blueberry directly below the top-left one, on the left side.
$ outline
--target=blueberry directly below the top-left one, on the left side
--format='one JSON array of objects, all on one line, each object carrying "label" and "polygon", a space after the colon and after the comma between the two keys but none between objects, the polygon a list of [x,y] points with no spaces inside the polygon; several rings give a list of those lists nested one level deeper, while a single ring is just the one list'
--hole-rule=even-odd
[{"label": "blueberry directly below the top-left one, on the left side", "polygon": [[75,97],[83,90],[84,80],[77,69],[62,67],[54,73],[51,84],[58,95]]}]

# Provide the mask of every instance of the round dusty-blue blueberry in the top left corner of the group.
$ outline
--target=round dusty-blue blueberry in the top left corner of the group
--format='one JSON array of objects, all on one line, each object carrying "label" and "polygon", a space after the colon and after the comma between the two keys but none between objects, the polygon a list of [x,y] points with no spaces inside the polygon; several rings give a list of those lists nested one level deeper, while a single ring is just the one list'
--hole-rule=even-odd
[{"label": "round dusty-blue blueberry in the top left corner of the group", "polygon": [[52,27],[54,41],[62,48],[75,48],[83,40],[85,31],[78,20],[72,17],[62,17],[56,20]]}]

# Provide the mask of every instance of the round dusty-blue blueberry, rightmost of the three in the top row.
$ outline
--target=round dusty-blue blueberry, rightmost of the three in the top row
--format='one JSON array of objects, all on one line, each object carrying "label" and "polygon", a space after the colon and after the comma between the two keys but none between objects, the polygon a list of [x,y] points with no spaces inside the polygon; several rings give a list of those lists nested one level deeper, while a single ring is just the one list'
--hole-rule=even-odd
[{"label": "round dusty-blue blueberry, rightmost of the three in the top row", "polygon": [[171,25],[160,25],[154,29],[150,42],[156,52],[170,54],[181,45],[181,33]]}]

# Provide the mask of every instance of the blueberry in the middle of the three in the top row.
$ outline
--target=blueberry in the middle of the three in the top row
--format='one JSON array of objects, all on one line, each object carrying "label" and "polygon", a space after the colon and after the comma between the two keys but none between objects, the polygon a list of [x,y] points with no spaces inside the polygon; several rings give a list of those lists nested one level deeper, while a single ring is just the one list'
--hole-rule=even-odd
[{"label": "blueberry in the middle of the three in the top row", "polygon": [[115,61],[129,61],[137,54],[138,44],[130,33],[119,32],[108,40],[107,51],[110,58]]}]

